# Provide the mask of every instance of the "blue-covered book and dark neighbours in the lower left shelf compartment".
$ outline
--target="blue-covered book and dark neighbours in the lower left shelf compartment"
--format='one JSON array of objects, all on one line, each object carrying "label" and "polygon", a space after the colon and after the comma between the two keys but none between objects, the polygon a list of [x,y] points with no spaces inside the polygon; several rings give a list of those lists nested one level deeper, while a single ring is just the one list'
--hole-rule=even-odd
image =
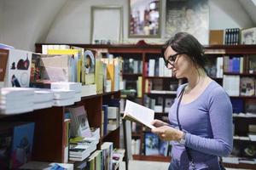
[{"label": "blue-covered book and dark neighbours in the lower left shelf compartment", "polygon": [[0,123],[0,169],[17,169],[32,158],[34,122]]}]

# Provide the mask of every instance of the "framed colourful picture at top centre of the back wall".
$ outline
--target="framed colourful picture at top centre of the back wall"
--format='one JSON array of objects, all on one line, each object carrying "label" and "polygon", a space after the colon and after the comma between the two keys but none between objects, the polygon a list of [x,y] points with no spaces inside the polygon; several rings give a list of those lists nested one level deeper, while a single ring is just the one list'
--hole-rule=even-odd
[{"label": "framed colourful picture at top centre of the back wall", "polygon": [[160,37],[160,0],[129,0],[129,37]]}]

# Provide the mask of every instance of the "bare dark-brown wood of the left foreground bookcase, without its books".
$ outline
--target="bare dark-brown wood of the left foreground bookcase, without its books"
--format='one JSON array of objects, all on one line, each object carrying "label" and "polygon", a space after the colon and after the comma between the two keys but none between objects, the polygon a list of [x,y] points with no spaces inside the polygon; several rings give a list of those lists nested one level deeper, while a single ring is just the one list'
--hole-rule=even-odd
[{"label": "bare dark-brown wood of the left foreground bookcase, without its books", "polygon": [[[119,99],[120,91],[106,94],[86,96],[74,105],[84,105],[87,111],[90,127],[101,127],[102,101],[106,99]],[[63,141],[65,107],[51,107],[20,115],[0,116],[1,122],[24,121],[35,122],[34,143],[32,149],[32,161],[64,161]],[[101,129],[102,130],[102,129]],[[114,148],[119,148],[119,127],[103,136],[97,149],[103,142],[113,142]],[[73,163],[72,161],[70,161]]]}]

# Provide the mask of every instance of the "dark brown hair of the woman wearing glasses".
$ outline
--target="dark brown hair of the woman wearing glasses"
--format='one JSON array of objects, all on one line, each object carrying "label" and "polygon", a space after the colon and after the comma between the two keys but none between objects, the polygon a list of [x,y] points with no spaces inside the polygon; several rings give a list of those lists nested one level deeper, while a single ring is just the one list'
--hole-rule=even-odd
[{"label": "dark brown hair of the woman wearing glasses", "polygon": [[162,48],[162,57],[165,59],[166,48],[171,47],[174,51],[187,54],[189,58],[206,71],[207,58],[204,56],[204,48],[198,40],[186,32],[178,32]]}]

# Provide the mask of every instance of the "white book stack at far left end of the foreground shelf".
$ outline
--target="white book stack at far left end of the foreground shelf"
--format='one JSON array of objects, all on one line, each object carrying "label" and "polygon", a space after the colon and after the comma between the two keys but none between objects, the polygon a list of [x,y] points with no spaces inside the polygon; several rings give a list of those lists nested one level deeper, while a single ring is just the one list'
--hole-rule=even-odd
[{"label": "white book stack at far left end of the foreground shelf", "polygon": [[17,114],[33,111],[34,89],[32,88],[1,88],[1,114]]}]

